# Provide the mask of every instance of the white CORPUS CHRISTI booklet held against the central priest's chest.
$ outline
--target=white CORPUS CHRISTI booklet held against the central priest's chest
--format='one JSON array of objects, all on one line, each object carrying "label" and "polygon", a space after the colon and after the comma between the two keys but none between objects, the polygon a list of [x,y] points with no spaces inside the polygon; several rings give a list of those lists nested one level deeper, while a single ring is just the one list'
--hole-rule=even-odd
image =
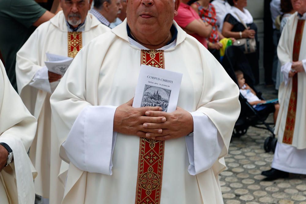
[{"label": "white CORPUS CHRISTI booklet held against the central priest's chest", "polygon": [[133,107],[159,106],[164,112],[176,110],[183,74],[141,65]]}]

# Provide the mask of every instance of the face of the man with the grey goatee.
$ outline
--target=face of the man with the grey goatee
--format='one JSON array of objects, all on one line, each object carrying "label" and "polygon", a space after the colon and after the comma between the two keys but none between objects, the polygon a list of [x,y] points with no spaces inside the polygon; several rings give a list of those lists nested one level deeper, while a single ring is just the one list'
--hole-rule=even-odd
[{"label": "face of the man with the grey goatee", "polygon": [[84,23],[91,2],[92,0],[61,0],[60,5],[68,23],[76,28]]}]

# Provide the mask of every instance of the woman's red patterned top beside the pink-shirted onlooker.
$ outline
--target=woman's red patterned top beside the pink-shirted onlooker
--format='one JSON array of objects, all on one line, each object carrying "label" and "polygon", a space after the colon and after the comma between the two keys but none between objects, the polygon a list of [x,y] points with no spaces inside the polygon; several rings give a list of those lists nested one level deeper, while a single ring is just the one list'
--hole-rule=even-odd
[{"label": "woman's red patterned top beside the pink-shirted onlooker", "polygon": [[208,4],[207,9],[199,4],[199,2],[194,2],[194,4],[198,8],[199,15],[203,22],[207,22],[212,26],[211,36],[209,37],[209,42],[211,43],[218,43],[219,42],[219,35],[218,35],[218,28],[217,28],[217,18],[216,18],[216,9],[214,5],[211,3]]}]

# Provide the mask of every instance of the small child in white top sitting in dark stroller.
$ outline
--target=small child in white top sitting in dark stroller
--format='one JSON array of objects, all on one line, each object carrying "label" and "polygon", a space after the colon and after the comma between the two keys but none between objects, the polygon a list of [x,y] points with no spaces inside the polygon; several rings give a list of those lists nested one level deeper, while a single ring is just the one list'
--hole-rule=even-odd
[{"label": "small child in white top sitting in dark stroller", "polygon": [[235,71],[235,75],[237,78],[238,86],[240,89],[241,95],[247,99],[248,103],[253,106],[253,108],[258,112],[259,115],[264,115],[266,113],[274,113],[273,119],[274,124],[277,118],[279,104],[277,103],[267,103],[264,100],[260,100],[256,96],[256,92],[247,84],[245,83],[245,79],[243,76],[243,72],[240,70]]}]

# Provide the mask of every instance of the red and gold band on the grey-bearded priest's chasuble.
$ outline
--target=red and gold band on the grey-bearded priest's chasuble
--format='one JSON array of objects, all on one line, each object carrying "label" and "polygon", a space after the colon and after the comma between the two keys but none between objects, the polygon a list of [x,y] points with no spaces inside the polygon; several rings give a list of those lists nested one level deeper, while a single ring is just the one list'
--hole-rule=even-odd
[{"label": "red and gold band on the grey-bearded priest's chasuble", "polygon": [[68,32],[68,57],[75,57],[82,49],[82,32]]}]

